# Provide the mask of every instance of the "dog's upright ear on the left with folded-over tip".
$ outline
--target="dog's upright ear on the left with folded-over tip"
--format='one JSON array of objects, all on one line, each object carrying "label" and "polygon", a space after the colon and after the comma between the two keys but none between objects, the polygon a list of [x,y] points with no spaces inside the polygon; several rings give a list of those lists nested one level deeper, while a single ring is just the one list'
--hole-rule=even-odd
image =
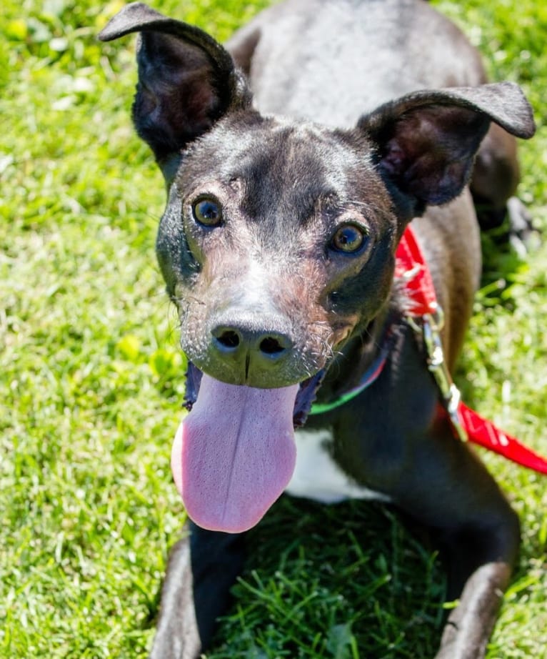
[{"label": "dog's upright ear on the left with folded-over tip", "polygon": [[199,28],[134,2],[109,21],[99,39],[131,32],[141,33],[134,124],[169,181],[181,149],[227,112],[250,106],[251,92],[228,51]]}]

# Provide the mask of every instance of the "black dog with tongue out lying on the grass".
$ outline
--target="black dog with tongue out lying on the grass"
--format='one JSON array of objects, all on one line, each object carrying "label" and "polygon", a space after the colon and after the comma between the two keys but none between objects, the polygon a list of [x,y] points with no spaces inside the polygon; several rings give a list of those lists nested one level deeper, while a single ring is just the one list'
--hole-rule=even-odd
[{"label": "black dog with tongue out lying on the grass", "polygon": [[[151,657],[209,645],[244,533],[285,490],[390,502],[433,529],[459,601],[436,657],[483,657],[518,517],[438,413],[395,253],[413,221],[451,369],[481,272],[475,205],[505,214],[528,102],[488,84],[423,0],[288,0],[226,47],[136,3],[100,38],[133,32],[133,119],[166,181],[156,251],[193,405],[171,457],[193,521],[171,552]],[[308,414],[384,349],[373,385]]]}]

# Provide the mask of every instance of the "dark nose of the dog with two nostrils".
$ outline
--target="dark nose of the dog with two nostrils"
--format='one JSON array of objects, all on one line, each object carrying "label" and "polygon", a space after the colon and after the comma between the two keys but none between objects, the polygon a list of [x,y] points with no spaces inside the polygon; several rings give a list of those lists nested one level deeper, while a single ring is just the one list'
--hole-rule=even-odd
[{"label": "dark nose of the dog with two nostrils", "polygon": [[213,345],[224,357],[273,367],[293,347],[291,337],[275,330],[250,329],[242,325],[221,324],[211,330]]}]

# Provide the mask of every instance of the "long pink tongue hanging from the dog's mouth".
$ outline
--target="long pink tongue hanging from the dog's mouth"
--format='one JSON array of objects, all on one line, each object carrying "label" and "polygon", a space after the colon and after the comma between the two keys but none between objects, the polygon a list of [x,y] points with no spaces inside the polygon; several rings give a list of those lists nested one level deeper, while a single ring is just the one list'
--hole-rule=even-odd
[{"label": "long pink tongue hanging from the dog's mouth", "polygon": [[203,375],[198,400],[176,432],[171,469],[197,525],[253,527],[293,475],[298,385],[254,389]]}]

